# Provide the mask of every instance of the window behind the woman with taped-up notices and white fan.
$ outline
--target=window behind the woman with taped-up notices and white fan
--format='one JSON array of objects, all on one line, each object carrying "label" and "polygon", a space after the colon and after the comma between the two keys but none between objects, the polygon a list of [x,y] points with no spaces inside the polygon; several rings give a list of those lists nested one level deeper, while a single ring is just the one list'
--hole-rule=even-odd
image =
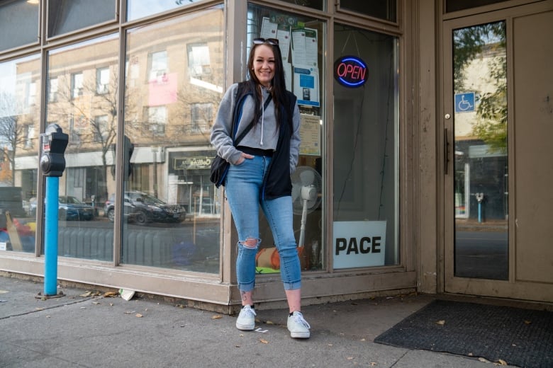
[{"label": "window behind the woman with taped-up notices and white fan", "polygon": [[[301,112],[300,158],[292,175],[294,230],[303,270],[325,268],[323,247],[323,130],[325,23],[284,11],[248,6],[247,45],[253,38],[277,38],[284,62],[286,88],[298,98]],[[267,222],[260,222],[265,239],[257,257],[257,272],[279,272]],[[277,256],[278,258],[278,256]]]}]

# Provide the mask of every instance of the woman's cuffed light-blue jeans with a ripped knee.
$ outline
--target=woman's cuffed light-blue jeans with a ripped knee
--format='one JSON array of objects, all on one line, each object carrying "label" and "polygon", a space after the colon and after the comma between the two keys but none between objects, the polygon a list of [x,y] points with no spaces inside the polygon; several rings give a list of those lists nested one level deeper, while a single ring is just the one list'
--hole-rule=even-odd
[{"label": "woman's cuffed light-blue jeans with a ripped knee", "polygon": [[238,231],[236,274],[240,292],[250,292],[255,286],[255,255],[261,242],[259,207],[267,218],[279,252],[284,289],[301,287],[301,267],[292,223],[292,198],[260,200],[263,177],[270,162],[271,158],[265,156],[245,159],[240,165],[231,164],[225,178],[225,193]]}]

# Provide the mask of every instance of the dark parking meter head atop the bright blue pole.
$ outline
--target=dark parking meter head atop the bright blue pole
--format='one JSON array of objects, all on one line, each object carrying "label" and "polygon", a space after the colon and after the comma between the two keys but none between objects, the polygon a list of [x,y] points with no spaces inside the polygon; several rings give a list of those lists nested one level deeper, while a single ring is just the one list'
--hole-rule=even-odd
[{"label": "dark parking meter head atop the bright blue pole", "polygon": [[60,177],[65,170],[65,149],[69,135],[62,132],[57,124],[50,124],[43,134],[40,134],[43,153],[40,156],[40,168],[44,176]]}]

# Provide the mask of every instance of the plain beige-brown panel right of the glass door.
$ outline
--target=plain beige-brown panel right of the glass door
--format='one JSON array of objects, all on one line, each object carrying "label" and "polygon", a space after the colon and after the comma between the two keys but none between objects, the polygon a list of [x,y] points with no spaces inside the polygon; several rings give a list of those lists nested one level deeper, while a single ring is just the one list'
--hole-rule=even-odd
[{"label": "plain beige-brown panel right of the glass door", "polygon": [[513,27],[516,279],[553,283],[553,11]]}]

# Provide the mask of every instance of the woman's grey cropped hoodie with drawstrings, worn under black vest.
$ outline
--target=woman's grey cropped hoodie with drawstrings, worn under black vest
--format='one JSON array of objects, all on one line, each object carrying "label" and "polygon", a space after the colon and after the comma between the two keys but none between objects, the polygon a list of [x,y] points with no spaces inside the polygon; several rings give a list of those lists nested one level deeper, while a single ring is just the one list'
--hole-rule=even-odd
[{"label": "woman's grey cropped hoodie with drawstrings, worn under black vest", "polygon": [[[217,153],[223,159],[227,160],[231,164],[236,164],[240,159],[241,152],[233,146],[232,139],[232,127],[233,127],[233,113],[235,110],[238,84],[233,84],[228,88],[223,96],[219,105],[219,110],[216,116],[216,120],[211,128],[211,144],[216,147]],[[262,88],[263,100],[266,100],[269,96],[269,91],[266,88]],[[240,132],[245,130],[247,125],[250,124],[254,117],[255,101],[252,96],[247,96],[242,107],[242,116],[238,123],[238,132],[236,136],[240,135]],[[298,163],[299,144],[300,144],[300,113],[296,103],[294,107],[294,116],[292,118],[292,125],[294,132],[292,133],[290,141],[290,173],[296,170],[296,164]],[[264,110],[262,117],[259,118],[257,125],[252,127],[252,130],[246,134],[246,136],[240,142],[240,146],[247,146],[257,149],[276,149],[279,139],[279,132],[277,129],[277,121],[274,117],[274,103],[271,101],[267,108]]]}]

